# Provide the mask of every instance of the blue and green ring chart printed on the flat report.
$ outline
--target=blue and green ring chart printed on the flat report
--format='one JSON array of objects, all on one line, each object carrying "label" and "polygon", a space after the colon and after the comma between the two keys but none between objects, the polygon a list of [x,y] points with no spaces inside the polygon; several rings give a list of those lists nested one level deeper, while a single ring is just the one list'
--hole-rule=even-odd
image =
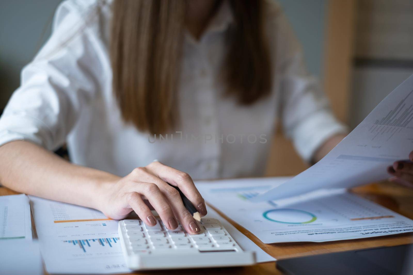
[{"label": "blue and green ring chart printed on the flat report", "polygon": [[317,216],[310,212],[290,208],[271,209],[262,216],[268,221],[290,224],[312,223],[317,219]]}]

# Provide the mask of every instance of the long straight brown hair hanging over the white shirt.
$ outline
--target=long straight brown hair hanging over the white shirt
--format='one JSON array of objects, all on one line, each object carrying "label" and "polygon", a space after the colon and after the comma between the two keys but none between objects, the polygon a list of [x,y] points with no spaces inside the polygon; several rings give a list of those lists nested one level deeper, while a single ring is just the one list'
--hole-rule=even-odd
[{"label": "long straight brown hair hanging over the white shirt", "polygon": [[[123,119],[151,134],[176,124],[186,0],[115,0],[110,42],[113,89]],[[252,104],[271,89],[264,0],[230,0],[235,24],[223,67],[227,94]]]}]

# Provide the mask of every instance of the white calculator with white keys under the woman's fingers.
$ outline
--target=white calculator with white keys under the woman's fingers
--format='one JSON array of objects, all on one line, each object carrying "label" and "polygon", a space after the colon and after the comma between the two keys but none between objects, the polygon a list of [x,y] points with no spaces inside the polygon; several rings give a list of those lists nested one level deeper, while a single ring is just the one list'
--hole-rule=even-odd
[{"label": "white calculator with white keys under the woman's fingers", "polygon": [[203,218],[201,233],[190,235],[181,225],[167,229],[160,220],[147,226],[141,220],[119,221],[126,264],[132,270],[249,266],[255,252],[243,251],[217,219]]}]

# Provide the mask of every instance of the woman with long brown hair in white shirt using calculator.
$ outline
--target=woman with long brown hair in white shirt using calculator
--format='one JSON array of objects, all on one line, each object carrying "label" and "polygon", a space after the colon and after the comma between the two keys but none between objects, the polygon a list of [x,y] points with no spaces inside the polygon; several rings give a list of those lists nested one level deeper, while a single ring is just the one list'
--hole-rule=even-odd
[{"label": "woman with long brown hair in white shirt using calculator", "polygon": [[196,234],[168,183],[207,214],[191,176],[262,175],[278,118],[309,161],[346,132],[272,1],[70,0],[0,119],[0,182]]}]

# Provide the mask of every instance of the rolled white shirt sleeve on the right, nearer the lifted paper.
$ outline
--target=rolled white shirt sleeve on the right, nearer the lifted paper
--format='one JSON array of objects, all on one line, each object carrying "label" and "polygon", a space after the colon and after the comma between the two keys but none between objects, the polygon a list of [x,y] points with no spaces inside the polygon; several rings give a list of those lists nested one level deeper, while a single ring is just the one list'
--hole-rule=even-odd
[{"label": "rolled white shirt sleeve on the right, nearer the lifted paper", "polygon": [[306,71],[301,45],[283,15],[279,24],[282,125],[301,157],[310,161],[327,139],[348,129],[332,114],[318,80]]}]

